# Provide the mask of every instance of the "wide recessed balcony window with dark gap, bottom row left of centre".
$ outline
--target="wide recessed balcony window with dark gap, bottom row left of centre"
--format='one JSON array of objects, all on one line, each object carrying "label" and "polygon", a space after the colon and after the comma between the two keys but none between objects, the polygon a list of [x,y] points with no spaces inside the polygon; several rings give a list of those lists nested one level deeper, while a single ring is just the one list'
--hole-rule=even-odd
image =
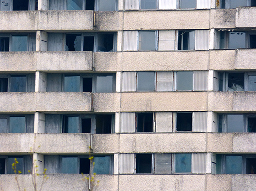
[{"label": "wide recessed balcony window with dark gap, bottom row left of centre", "polygon": [[44,155],[44,168],[49,174],[113,174],[113,155],[93,155],[92,163],[89,157],[89,155]]}]

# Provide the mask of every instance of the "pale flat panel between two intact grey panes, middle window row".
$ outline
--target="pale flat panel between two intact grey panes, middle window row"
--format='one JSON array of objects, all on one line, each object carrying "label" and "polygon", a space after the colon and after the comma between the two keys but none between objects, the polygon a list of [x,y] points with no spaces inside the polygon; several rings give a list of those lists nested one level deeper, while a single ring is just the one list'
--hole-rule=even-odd
[{"label": "pale flat panel between two intact grey panes, middle window row", "polygon": [[173,91],[173,72],[157,72],[157,92]]}]

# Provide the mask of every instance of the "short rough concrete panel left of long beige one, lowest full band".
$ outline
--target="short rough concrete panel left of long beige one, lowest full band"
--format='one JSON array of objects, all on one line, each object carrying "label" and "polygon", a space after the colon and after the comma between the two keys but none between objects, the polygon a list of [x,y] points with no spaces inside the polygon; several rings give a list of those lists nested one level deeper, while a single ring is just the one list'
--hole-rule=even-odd
[{"label": "short rough concrete panel left of long beige one, lowest full band", "polygon": [[93,153],[119,153],[119,134],[92,134]]}]

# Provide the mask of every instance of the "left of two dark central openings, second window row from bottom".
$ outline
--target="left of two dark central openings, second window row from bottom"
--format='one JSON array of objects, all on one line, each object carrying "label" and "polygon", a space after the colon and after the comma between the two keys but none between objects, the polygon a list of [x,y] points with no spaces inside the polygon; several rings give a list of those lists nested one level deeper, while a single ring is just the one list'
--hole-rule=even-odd
[{"label": "left of two dark central openings, second window row from bottom", "polygon": [[137,114],[137,132],[153,132],[153,113]]}]

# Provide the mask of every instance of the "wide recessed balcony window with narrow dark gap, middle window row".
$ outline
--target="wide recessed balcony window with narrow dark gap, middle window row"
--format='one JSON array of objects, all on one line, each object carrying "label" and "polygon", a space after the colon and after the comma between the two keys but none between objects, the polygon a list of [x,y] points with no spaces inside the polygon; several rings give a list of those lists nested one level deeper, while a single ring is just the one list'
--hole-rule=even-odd
[{"label": "wide recessed balcony window with narrow dark gap, middle window row", "polygon": [[47,74],[47,92],[115,92],[115,74]]}]

